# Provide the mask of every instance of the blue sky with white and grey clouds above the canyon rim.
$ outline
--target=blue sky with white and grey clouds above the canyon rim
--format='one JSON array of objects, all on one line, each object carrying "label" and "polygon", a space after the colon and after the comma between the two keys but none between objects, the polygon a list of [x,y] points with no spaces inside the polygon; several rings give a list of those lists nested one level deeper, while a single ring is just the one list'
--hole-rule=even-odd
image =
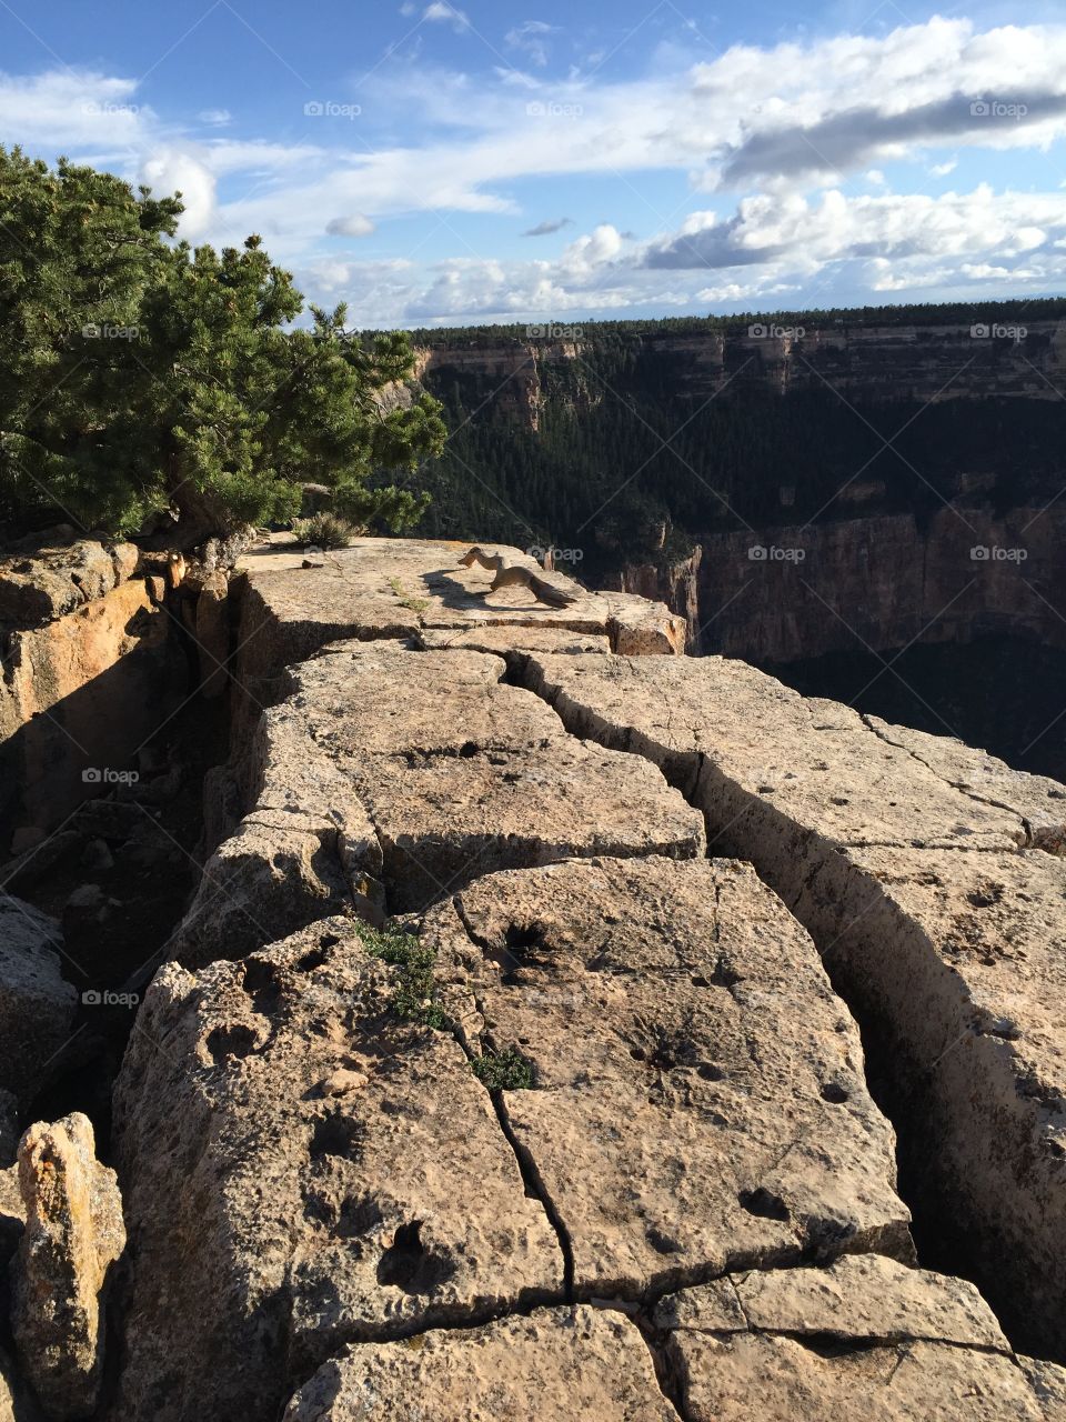
[{"label": "blue sky with white and grey clouds above the canyon rim", "polygon": [[1056,294],[1066,4],[0,0],[0,142],[357,327]]}]

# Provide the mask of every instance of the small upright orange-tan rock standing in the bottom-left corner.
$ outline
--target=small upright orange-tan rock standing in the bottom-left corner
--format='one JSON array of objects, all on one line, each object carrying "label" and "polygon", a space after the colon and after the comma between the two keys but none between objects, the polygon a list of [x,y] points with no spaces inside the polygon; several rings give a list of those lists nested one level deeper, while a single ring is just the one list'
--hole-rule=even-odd
[{"label": "small upright orange-tan rock standing in the bottom-left corner", "polygon": [[50,1416],[84,1418],[99,1386],[101,1295],[125,1249],[115,1172],[97,1162],[92,1126],[75,1112],[26,1132],[18,1186],[26,1206],[13,1266],[18,1358]]}]

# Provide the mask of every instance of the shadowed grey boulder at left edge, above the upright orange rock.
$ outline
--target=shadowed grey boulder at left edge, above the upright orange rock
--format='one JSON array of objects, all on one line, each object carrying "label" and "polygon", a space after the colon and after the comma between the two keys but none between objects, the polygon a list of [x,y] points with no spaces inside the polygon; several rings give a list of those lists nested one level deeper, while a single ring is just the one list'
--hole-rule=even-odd
[{"label": "shadowed grey boulder at left edge, above the upright orange rock", "polygon": [[41,1075],[70,1035],[77,993],[60,971],[60,926],[0,894],[0,1086],[16,1096]]}]

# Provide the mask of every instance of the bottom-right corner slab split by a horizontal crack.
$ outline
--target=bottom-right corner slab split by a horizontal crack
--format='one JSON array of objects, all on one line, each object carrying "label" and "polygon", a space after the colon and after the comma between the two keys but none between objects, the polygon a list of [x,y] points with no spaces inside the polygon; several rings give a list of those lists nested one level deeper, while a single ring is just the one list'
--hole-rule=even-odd
[{"label": "bottom-right corner slab split by a horizontal crack", "polygon": [[1053,1422],[972,1284],[877,1256],[719,1280],[655,1311],[692,1422]]}]

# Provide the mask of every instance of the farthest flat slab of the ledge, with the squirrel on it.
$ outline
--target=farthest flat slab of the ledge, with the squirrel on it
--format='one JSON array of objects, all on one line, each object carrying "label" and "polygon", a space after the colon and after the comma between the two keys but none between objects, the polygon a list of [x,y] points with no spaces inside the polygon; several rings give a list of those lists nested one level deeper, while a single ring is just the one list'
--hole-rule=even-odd
[{"label": "farthest flat slab of the ledge, with the squirrel on it", "polygon": [[[337,638],[416,637],[435,631],[497,629],[513,646],[524,629],[607,637],[630,656],[679,656],[685,623],[662,603],[625,593],[588,593],[561,573],[543,574],[520,549],[483,545],[546,576],[573,594],[566,609],[544,607],[526,589],[489,593],[493,574],[462,567],[469,543],[424,539],[355,539],[351,547],[317,555],[301,567],[291,550],[260,552],[239,563],[244,574],[239,668],[246,684],[276,675]],[[300,559],[303,562],[303,559]],[[524,640],[523,640],[524,638]],[[507,648],[509,650],[509,648]]]}]

